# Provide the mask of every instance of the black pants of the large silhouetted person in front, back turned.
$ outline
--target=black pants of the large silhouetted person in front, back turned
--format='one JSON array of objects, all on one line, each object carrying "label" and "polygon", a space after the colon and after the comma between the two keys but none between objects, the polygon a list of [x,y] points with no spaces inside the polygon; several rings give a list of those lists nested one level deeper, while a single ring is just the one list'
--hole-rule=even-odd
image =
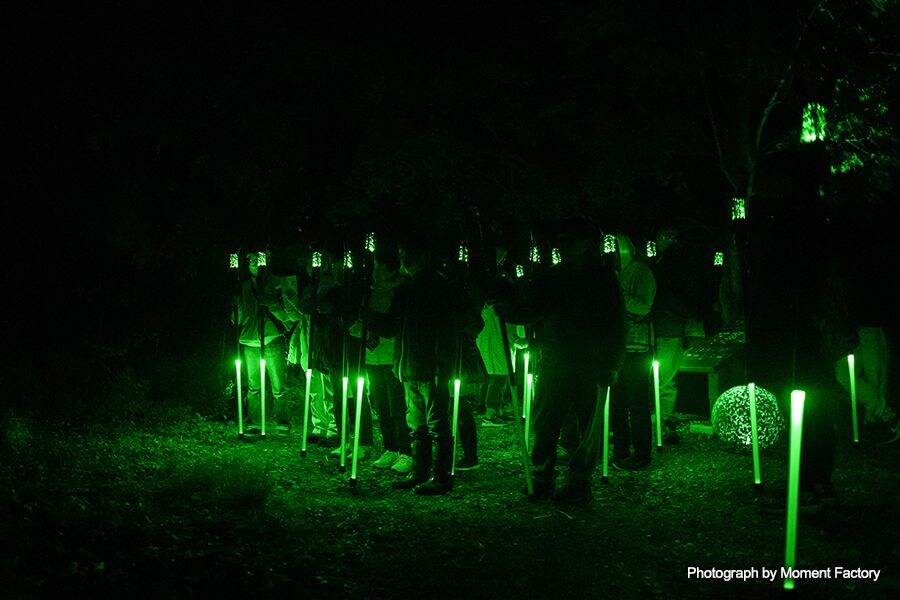
[{"label": "black pants of the large silhouetted person in front, back turned", "polygon": [[[601,401],[605,398],[604,391]],[[578,440],[577,445],[573,444],[566,482],[590,485],[603,442],[603,430],[595,423],[602,419],[602,413],[597,414],[597,409],[597,385],[590,378],[562,369],[542,372],[531,415],[534,431],[531,473],[535,483],[554,483],[557,443],[563,423],[570,418],[574,420]],[[602,404],[599,409],[602,411]]]}]

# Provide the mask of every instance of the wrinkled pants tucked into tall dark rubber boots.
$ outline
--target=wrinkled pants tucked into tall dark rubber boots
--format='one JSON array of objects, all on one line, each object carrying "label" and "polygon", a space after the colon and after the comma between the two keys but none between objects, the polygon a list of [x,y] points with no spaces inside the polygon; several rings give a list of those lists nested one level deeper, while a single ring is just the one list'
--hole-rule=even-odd
[{"label": "wrinkled pants tucked into tall dark rubber boots", "polygon": [[406,424],[412,440],[413,476],[425,478],[432,472],[435,481],[449,481],[453,440],[447,386],[435,385],[433,381],[407,381],[403,389]]}]

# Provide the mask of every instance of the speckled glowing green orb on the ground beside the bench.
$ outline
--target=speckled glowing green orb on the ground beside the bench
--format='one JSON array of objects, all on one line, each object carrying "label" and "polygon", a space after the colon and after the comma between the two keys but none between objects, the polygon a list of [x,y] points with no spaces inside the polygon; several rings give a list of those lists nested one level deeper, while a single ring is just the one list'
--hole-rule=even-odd
[{"label": "speckled glowing green orb on the ground beside the bench", "polygon": [[[712,410],[713,433],[737,448],[753,443],[750,430],[750,393],[738,385],[722,392]],[[772,392],[756,386],[756,427],[759,447],[768,448],[778,441],[784,430],[784,417]]]}]

